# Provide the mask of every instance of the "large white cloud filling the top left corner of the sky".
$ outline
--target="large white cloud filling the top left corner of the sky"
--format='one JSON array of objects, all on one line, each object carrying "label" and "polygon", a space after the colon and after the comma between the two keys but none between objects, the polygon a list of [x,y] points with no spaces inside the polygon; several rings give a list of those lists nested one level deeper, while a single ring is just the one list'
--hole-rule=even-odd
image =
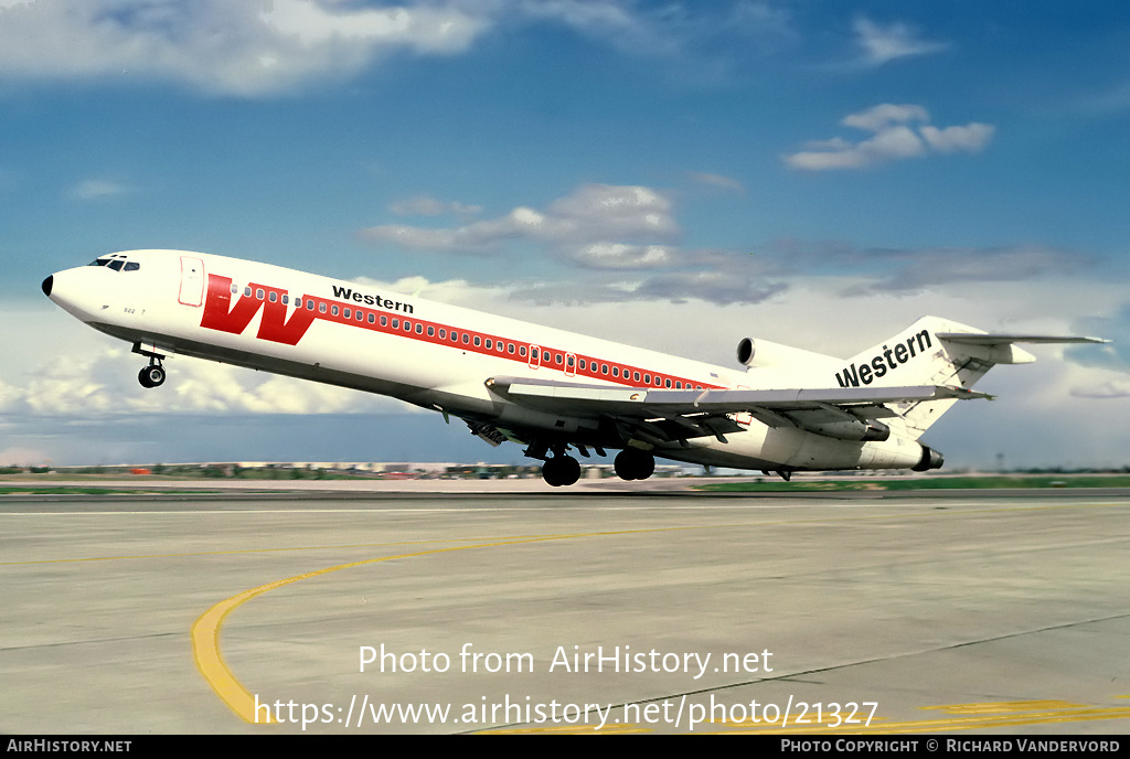
[{"label": "large white cloud filling the top left corner of the sky", "polygon": [[493,24],[461,3],[332,0],[40,0],[0,12],[10,79],[148,78],[261,96],[355,73],[405,51],[452,55]]}]

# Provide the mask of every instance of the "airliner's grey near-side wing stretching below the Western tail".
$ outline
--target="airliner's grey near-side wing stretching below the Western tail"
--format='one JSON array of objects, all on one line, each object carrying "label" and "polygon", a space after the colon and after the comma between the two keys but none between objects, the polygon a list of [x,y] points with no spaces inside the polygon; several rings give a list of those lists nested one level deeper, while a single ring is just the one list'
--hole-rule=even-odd
[{"label": "airliner's grey near-side wing stretching below the Western tail", "polygon": [[829,387],[789,390],[666,390],[609,387],[554,380],[494,377],[494,392],[514,403],[560,415],[609,418],[624,433],[660,442],[742,429],[730,415],[749,413],[771,427],[801,427],[841,439],[886,439],[878,419],[897,416],[886,403],[991,398],[960,387]]}]

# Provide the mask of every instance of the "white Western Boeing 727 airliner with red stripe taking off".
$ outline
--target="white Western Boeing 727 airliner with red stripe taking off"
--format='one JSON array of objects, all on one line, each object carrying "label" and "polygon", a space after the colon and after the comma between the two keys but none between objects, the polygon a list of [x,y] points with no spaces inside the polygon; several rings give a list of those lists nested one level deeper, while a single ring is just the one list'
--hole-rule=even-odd
[{"label": "white Western Boeing 727 airliner with red stripe taking off", "polygon": [[1094,338],[986,334],[925,316],[841,360],[746,338],[740,369],[712,366],[381,288],[183,251],[128,251],[43,280],[43,291],[149,359],[194,356],[380,393],[462,419],[545,462],[553,486],[619,450],[616,473],[646,479],[655,456],[763,470],[941,466],[919,437],[994,364],[1035,360],[1017,342]]}]

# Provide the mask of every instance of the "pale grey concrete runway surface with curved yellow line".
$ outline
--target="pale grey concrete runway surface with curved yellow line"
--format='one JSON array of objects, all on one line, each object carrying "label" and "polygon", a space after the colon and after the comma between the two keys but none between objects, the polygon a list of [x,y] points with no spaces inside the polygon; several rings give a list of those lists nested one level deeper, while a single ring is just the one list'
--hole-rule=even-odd
[{"label": "pale grey concrete runway surface with curved yellow line", "polygon": [[0,732],[1130,732],[1125,492],[646,485],[5,498]]}]

